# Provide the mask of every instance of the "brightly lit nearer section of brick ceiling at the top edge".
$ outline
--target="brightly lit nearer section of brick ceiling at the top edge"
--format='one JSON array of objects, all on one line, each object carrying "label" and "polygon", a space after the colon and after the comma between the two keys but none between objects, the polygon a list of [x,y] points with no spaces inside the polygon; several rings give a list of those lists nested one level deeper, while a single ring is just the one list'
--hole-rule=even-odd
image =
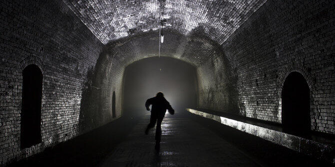
[{"label": "brightly lit nearer section of brick ceiling at the top edge", "polygon": [[[183,35],[204,25],[222,43],[266,0],[63,0],[104,44],[149,30],[161,19]],[[160,6],[160,7],[159,7]]]}]

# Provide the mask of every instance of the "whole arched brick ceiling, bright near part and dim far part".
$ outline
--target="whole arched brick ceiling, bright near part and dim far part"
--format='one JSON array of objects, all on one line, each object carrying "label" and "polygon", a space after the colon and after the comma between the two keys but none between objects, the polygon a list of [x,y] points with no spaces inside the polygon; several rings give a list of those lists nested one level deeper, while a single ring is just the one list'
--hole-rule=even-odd
[{"label": "whole arched brick ceiling, bright near part and dim far part", "polygon": [[158,54],[161,5],[162,55],[199,65],[266,0],[63,1],[125,64]]}]

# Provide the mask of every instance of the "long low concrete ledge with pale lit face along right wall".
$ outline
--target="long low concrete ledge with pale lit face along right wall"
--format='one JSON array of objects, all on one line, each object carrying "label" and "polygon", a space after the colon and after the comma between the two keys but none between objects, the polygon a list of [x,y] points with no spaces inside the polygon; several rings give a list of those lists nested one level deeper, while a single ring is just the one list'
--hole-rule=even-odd
[{"label": "long low concrete ledge with pale lit face along right wall", "polygon": [[335,147],[333,145],[323,144],[320,142],[304,139],[298,136],[286,134],[283,132],[271,130],[268,128],[252,125],[241,121],[236,121],[222,116],[205,113],[194,109],[186,108],[186,111],[192,114],[199,115],[204,118],[217,121],[223,125],[265,139],[271,143],[284,146],[296,152],[335,165]]}]

